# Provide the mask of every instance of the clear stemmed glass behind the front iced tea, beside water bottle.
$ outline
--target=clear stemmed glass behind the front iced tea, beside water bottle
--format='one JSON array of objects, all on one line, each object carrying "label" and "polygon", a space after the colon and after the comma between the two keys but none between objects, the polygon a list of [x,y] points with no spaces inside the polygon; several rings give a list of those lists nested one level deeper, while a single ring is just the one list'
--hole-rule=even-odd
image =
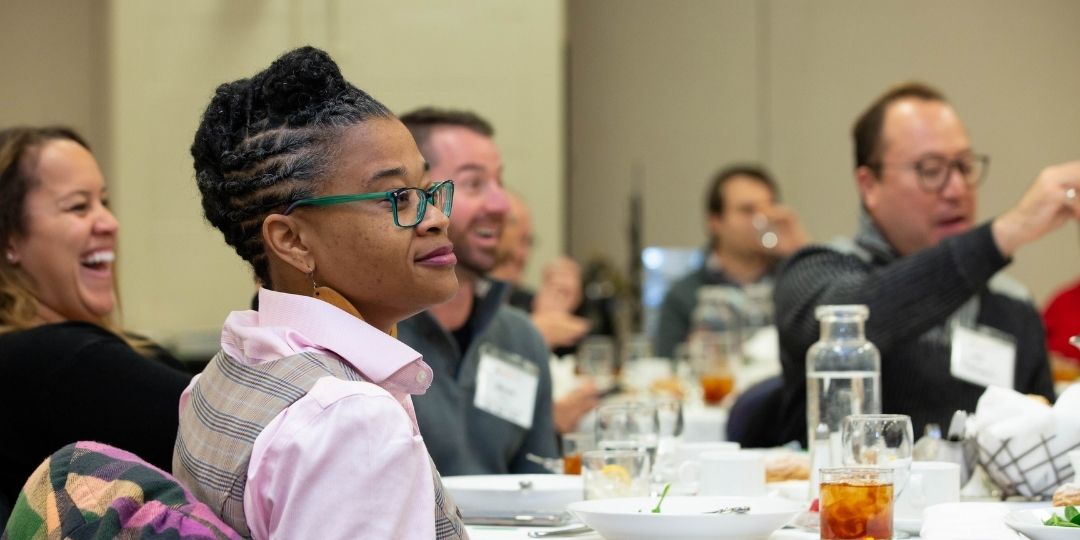
[{"label": "clear stemmed glass behind the front iced tea, beside water bottle", "polygon": [[840,430],[843,464],[891,469],[899,497],[910,474],[914,438],[907,415],[851,415]]}]

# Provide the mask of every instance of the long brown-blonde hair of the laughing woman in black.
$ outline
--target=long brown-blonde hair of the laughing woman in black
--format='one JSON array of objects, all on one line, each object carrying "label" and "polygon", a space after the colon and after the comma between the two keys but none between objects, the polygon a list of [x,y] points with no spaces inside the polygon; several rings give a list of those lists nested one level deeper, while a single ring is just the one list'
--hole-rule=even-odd
[{"label": "long brown-blonde hair of the laughing woman in black", "polygon": [[[90,150],[86,140],[66,126],[23,126],[0,131],[0,244],[4,251],[13,239],[26,233],[26,195],[40,181],[31,174],[31,164],[41,148],[52,140],[71,140]],[[94,322],[139,352],[145,353],[151,347],[148,340],[123,332],[113,315]],[[38,299],[28,286],[24,271],[6,256],[0,257],[0,334],[40,324]]]}]

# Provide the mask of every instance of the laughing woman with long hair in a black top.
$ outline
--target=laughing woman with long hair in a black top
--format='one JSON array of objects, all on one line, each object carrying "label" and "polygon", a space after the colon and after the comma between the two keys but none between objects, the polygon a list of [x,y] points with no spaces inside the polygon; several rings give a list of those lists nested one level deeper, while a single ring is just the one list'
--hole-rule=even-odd
[{"label": "laughing woman with long hair in a black top", "polygon": [[106,202],[73,131],[0,131],[0,514],[68,443],[172,462],[191,376],[113,321],[118,224]]}]

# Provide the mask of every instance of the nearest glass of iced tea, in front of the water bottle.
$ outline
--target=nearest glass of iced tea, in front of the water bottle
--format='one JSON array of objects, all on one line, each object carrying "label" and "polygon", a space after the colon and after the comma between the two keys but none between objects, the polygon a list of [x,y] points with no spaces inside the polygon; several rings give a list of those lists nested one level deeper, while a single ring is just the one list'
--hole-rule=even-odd
[{"label": "nearest glass of iced tea, in front of the water bottle", "polygon": [[892,539],[892,469],[821,470],[822,540]]}]

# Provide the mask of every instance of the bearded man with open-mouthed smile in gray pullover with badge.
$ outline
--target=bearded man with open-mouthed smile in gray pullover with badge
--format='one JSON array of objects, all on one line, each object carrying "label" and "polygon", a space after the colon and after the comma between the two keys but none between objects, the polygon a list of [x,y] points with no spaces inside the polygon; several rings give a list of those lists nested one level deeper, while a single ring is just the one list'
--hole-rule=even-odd
[{"label": "bearded man with open-mouthed smile in gray pullover with badge", "polygon": [[544,472],[528,455],[557,457],[549,350],[505,283],[486,279],[510,200],[491,125],[478,116],[424,108],[401,117],[431,165],[454,179],[449,237],[458,293],[399,325],[399,337],[434,370],[415,400],[420,433],[444,475]]}]

